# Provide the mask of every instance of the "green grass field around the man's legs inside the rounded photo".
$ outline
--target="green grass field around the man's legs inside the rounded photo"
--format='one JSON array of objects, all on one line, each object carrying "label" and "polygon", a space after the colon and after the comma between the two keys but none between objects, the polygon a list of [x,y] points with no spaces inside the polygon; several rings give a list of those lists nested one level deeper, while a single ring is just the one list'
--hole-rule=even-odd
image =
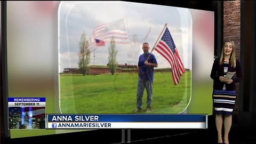
[{"label": "green grass field around the man's legs inside the rounded photo", "polygon": [[[62,113],[133,114],[137,103],[135,73],[102,75],[60,75],[60,108]],[[174,85],[171,72],[154,74],[153,102],[150,114],[177,114],[188,105],[191,95],[191,71]],[[146,113],[146,89],[143,109]]]}]

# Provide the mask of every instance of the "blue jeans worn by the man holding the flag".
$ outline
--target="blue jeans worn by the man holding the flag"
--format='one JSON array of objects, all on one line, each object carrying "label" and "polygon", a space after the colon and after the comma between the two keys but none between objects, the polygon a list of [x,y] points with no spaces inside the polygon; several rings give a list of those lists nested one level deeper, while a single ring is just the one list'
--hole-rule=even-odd
[{"label": "blue jeans worn by the man holding the flag", "polygon": [[146,87],[147,90],[147,108],[151,108],[151,103],[153,99],[153,83],[151,81],[143,81],[140,77],[138,80],[138,90],[137,90],[137,108],[142,109],[142,97],[143,97],[143,92]]}]

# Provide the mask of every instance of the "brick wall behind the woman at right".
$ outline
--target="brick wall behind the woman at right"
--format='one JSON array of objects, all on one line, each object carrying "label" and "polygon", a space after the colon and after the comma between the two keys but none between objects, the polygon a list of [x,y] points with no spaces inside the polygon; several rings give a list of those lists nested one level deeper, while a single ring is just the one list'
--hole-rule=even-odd
[{"label": "brick wall behind the woman at right", "polygon": [[[223,2],[223,41],[235,42],[236,58],[240,60],[240,1]],[[239,84],[236,84],[237,101],[234,112],[238,110]]]}]

